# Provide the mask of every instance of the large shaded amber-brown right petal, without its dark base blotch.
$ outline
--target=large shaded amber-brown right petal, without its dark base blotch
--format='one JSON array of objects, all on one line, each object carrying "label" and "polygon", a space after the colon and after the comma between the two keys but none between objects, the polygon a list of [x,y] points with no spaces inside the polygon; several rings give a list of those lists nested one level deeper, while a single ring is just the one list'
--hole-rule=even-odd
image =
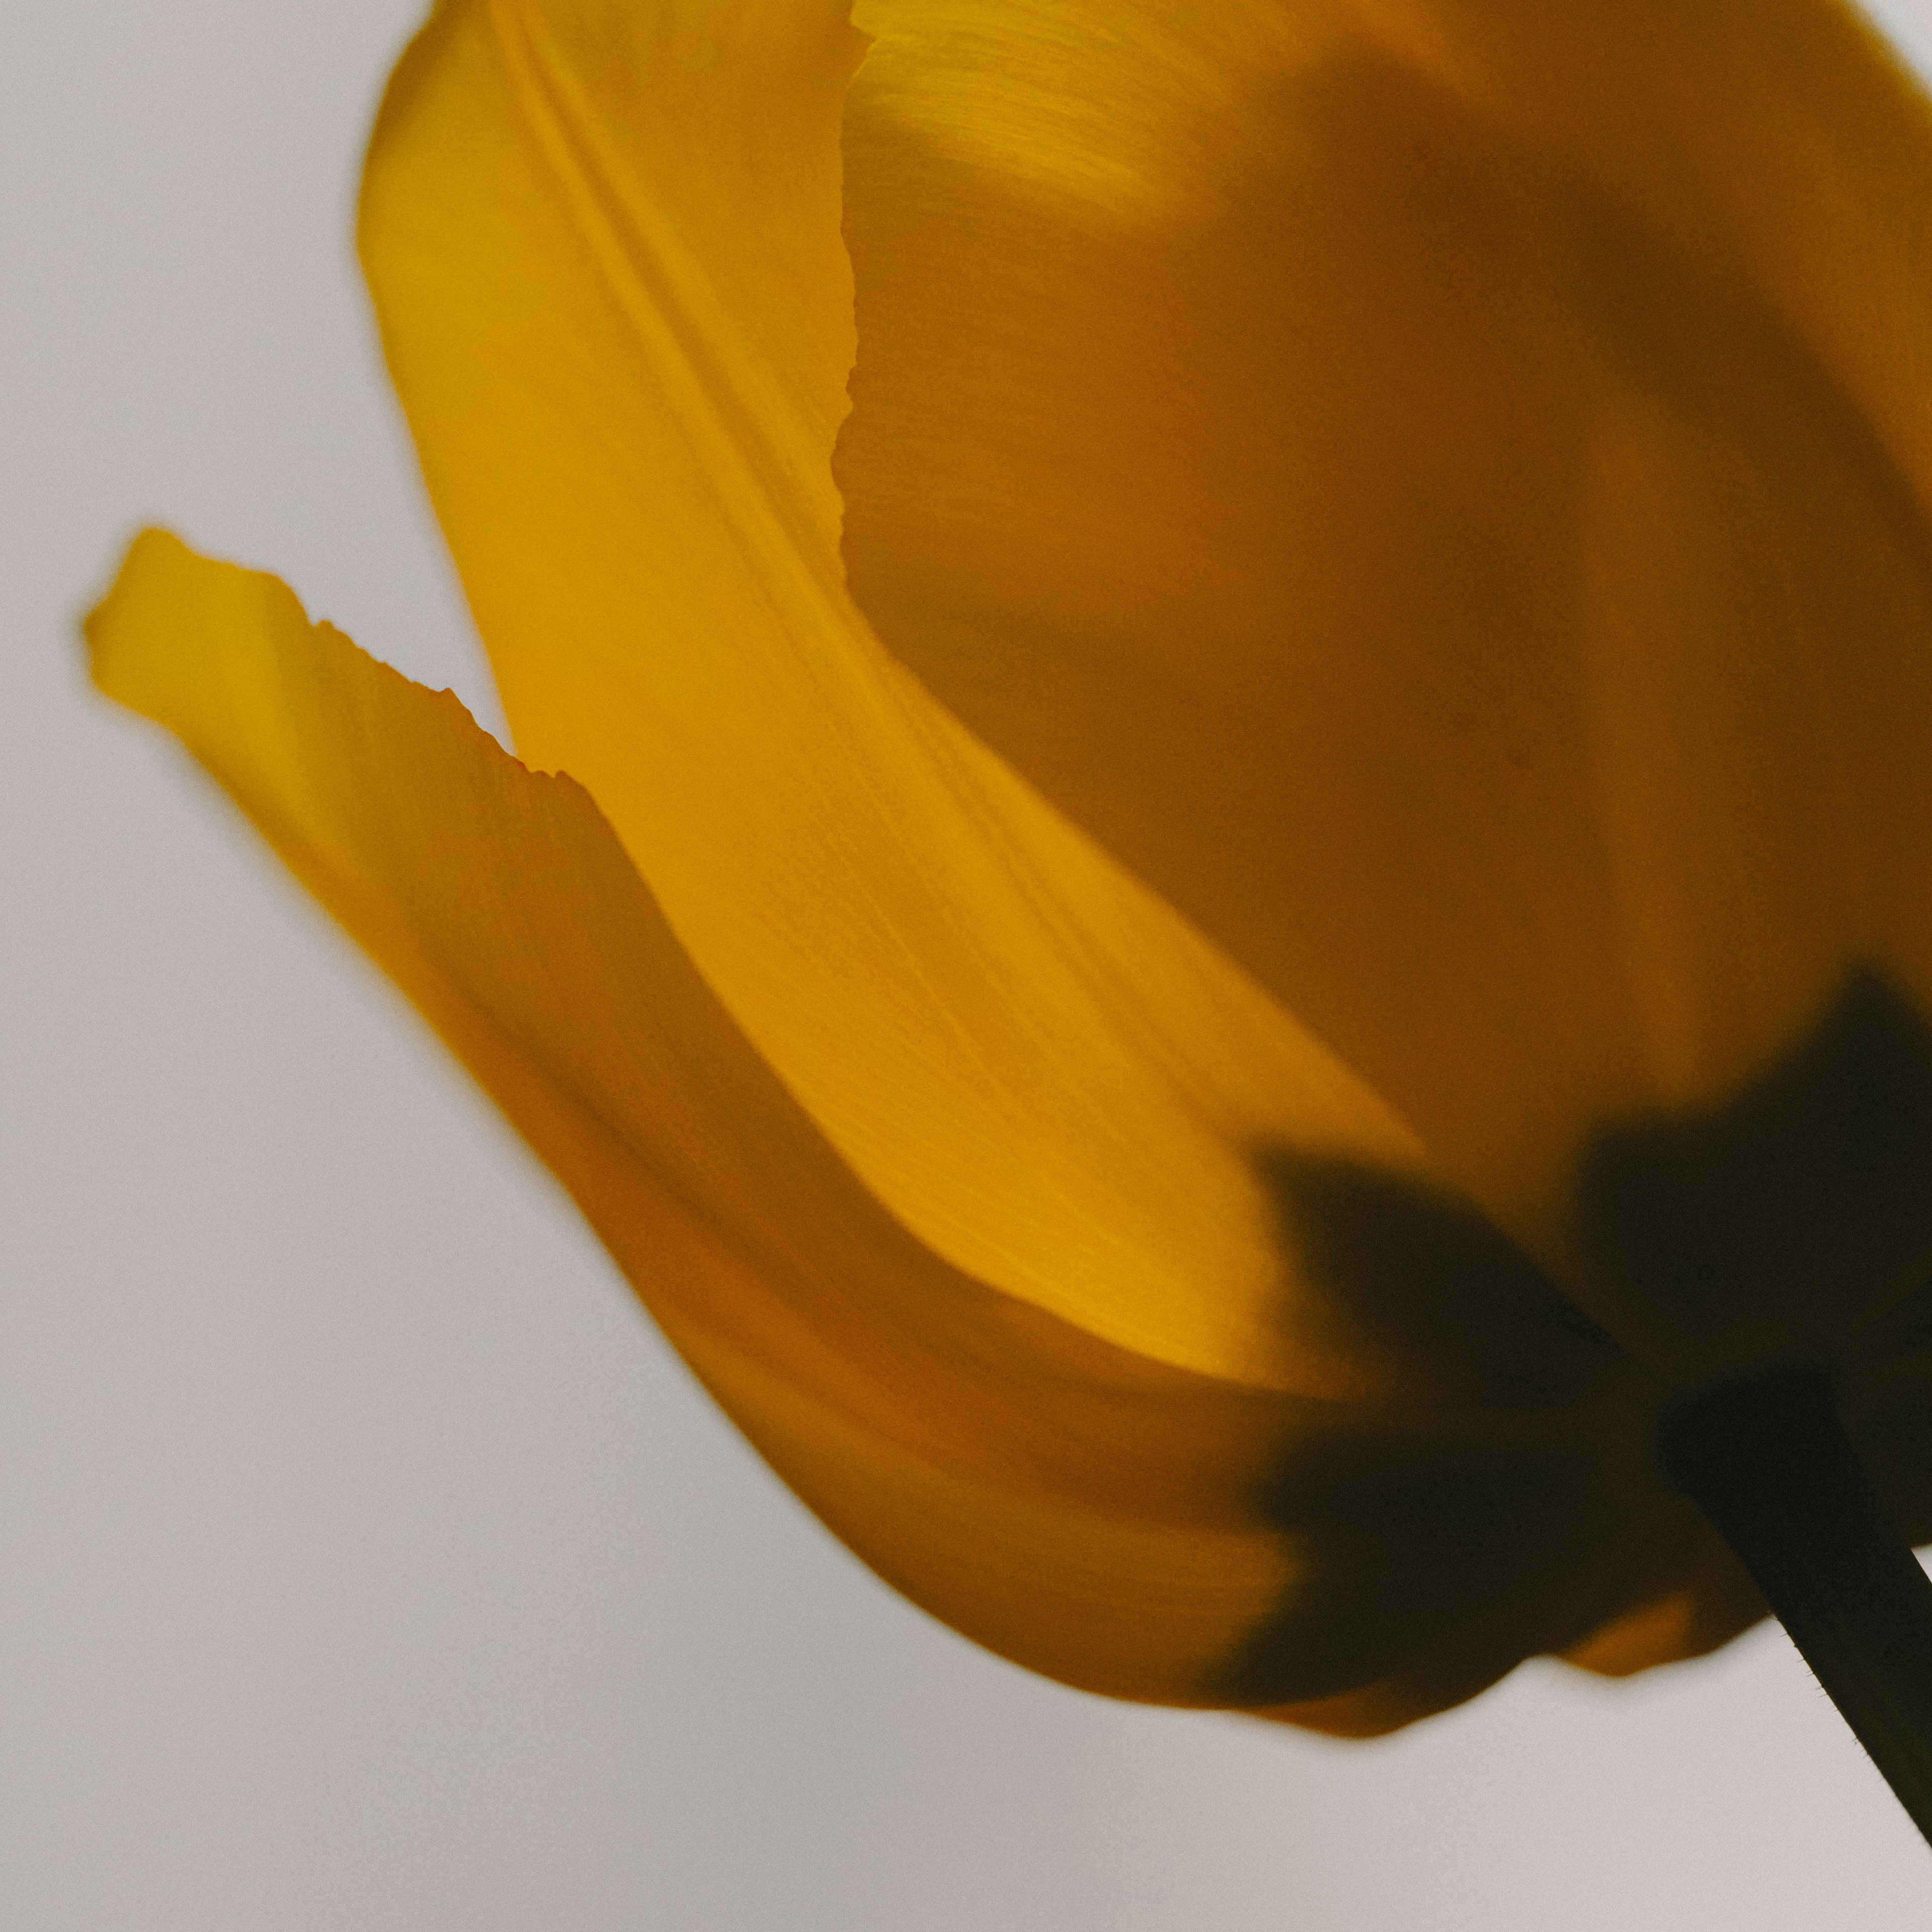
[{"label": "large shaded amber-brown right petal, without its dark base blotch", "polygon": [[1932,987],[1924,100],[1830,0],[856,17],[856,601],[1696,1372],[1586,1128]]}]

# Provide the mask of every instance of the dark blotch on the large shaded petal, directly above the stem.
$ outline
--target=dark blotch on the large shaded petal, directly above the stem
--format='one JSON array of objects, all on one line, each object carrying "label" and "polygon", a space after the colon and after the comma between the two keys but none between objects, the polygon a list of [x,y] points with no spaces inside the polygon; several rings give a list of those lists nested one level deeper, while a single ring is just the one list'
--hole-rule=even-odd
[{"label": "dark blotch on the large shaded petal, directly above the stem", "polygon": [[1577,1184],[1617,1304],[1723,1362],[1830,1356],[1932,1265],[1932,1030],[1870,966],[1702,1113],[1605,1128]]}]

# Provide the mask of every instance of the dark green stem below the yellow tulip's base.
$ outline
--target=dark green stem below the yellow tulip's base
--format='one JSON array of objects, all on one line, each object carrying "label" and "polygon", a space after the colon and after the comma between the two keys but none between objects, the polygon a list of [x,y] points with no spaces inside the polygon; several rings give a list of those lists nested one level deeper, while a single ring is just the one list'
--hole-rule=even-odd
[{"label": "dark green stem below the yellow tulip's base", "polygon": [[1658,1453],[1932,1843],[1932,1578],[1853,1453],[1830,1379],[1787,1368],[1679,1397]]}]

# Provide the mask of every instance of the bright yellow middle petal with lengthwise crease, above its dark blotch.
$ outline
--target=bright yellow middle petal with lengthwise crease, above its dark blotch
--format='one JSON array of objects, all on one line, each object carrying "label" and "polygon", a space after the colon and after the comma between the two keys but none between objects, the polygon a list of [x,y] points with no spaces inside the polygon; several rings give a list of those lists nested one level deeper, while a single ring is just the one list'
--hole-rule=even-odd
[{"label": "bright yellow middle petal with lengthwise crease, above its dark blotch", "polygon": [[962,732],[840,587],[842,4],[454,0],[363,259],[520,752],[585,782],[866,1182],[980,1279],[1347,1393],[1252,1150],[1406,1128]]}]

